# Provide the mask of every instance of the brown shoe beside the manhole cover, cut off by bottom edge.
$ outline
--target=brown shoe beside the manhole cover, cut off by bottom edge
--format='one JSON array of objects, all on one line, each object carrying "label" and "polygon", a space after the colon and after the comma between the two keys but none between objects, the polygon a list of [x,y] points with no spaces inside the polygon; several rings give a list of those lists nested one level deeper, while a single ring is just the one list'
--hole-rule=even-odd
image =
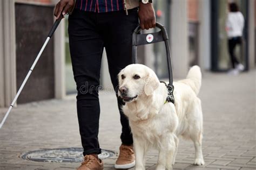
[{"label": "brown shoe beside the manhole cover, cut off by bottom edge", "polygon": [[103,170],[103,161],[97,160],[93,155],[85,155],[84,162],[80,165],[77,170]]}]

